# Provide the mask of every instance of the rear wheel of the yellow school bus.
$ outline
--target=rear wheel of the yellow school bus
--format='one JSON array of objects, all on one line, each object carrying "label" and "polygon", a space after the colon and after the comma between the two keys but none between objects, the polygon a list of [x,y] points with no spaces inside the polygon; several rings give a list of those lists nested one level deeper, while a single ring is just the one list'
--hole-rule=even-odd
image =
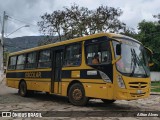
[{"label": "rear wheel of the yellow school bus", "polygon": [[24,82],[24,81],[20,82],[18,93],[22,97],[27,96],[27,85],[26,85],[26,82]]}]

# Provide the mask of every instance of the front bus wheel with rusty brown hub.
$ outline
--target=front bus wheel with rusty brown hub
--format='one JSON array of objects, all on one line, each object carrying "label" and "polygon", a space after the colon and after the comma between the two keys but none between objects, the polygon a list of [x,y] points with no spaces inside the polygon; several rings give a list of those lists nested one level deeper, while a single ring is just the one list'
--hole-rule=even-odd
[{"label": "front bus wheel with rusty brown hub", "polygon": [[73,105],[83,106],[88,102],[88,97],[85,96],[84,88],[81,84],[75,83],[69,89],[69,102]]}]

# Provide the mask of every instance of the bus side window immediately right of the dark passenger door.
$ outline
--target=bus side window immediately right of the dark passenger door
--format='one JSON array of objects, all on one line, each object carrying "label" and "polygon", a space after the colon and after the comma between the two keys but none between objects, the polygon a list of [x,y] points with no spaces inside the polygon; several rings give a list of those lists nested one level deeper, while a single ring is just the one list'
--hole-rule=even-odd
[{"label": "bus side window immediately right of the dark passenger door", "polygon": [[65,50],[64,66],[79,66],[81,64],[81,44],[69,45]]}]

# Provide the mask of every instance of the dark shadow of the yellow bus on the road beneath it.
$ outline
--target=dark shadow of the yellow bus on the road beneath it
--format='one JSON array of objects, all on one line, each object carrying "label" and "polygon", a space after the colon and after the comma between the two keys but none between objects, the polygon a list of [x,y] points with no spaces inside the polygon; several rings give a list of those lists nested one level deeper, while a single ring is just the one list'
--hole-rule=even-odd
[{"label": "dark shadow of the yellow bus on the road beneath it", "polygon": [[[41,101],[48,101],[48,102],[53,102],[53,103],[58,103],[58,104],[66,104],[66,105],[71,105],[68,102],[68,98],[67,97],[63,97],[63,96],[58,96],[58,95],[47,95],[45,93],[42,92],[38,92],[33,94],[32,96],[29,97],[21,97],[18,94],[14,94],[14,96],[18,96],[18,98],[20,97],[21,99],[23,98],[23,101],[21,102],[41,102]],[[125,102],[125,101],[124,101]],[[73,106],[73,105],[71,105]],[[123,111],[127,111],[127,110],[137,110],[136,106],[133,106],[132,104],[123,104],[119,103],[119,102],[115,102],[112,104],[104,104],[101,100],[98,99],[91,99],[88,104],[86,106],[83,107],[87,107],[87,108],[92,108],[95,110],[123,110]]]}]

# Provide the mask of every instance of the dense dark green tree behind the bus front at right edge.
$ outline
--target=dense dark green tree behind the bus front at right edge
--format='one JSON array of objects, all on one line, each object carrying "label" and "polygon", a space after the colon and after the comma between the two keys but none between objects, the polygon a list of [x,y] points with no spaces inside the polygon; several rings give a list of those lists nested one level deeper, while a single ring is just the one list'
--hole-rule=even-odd
[{"label": "dense dark green tree behind the bus front at right edge", "polygon": [[138,26],[139,40],[154,52],[153,61],[155,65],[152,70],[160,70],[160,24],[143,20]]}]

